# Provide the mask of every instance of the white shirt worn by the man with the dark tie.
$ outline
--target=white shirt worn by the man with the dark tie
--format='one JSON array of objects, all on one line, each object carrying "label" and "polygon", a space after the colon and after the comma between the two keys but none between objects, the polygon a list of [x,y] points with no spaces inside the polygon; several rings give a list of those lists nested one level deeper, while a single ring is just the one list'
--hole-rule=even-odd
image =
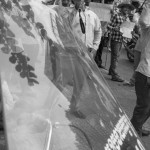
[{"label": "white shirt worn by the man with the dark tie", "polygon": [[97,50],[102,36],[101,23],[98,16],[89,8],[86,8],[84,12],[81,11],[80,14],[85,26],[85,34],[83,34],[79,22],[79,12],[75,9],[73,11],[72,29],[74,35],[81,39],[87,48]]}]

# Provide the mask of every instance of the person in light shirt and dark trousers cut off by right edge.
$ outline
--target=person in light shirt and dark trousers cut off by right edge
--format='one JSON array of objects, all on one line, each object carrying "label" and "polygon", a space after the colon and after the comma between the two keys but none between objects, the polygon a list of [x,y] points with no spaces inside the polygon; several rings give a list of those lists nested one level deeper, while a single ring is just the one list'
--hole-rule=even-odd
[{"label": "person in light shirt and dark trousers cut off by right edge", "polygon": [[[147,8],[150,12],[150,8]],[[145,11],[146,12],[146,11]],[[148,11],[147,11],[148,12]],[[142,12],[139,24],[141,36],[134,52],[136,106],[131,123],[139,136],[148,136],[150,131],[143,130],[143,124],[150,117],[150,13]]]}]

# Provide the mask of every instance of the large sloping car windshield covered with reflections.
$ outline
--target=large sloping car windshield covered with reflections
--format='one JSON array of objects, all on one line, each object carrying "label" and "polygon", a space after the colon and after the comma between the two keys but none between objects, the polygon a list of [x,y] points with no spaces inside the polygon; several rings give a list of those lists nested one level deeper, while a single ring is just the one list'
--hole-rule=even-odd
[{"label": "large sloping car windshield covered with reflections", "polygon": [[8,150],[141,149],[86,46],[73,8],[0,3],[1,97]]}]

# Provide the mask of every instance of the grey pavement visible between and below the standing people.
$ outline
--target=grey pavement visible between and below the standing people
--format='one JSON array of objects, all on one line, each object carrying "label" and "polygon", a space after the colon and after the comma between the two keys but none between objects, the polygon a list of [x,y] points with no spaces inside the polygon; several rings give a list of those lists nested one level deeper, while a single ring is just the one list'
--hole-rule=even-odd
[{"label": "grey pavement visible between and below the standing people", "polygon": [[[106,61],[106,54],[107,54],[107,63],[106,68],[107,70],[101,69],[101,72],[106,79],[108,85],[110,86],[112,93],[116,100],[118,100],[121,107],[126,112],[129,119],[132,117],[133,109],[136,102],[136,95],[134,87],[131,86],[125,86],[123,83],[114,82],[111,80],[111,76],[108,75],[108,69],[110,65],[110,52],[107,53],[105,50],[103,52],[102,60],[103,65],[105,66]],[[130,77],[133,73],[133,63],[129,62],[126,51],[122,49],[120,59],[119,59],[119,65],[118,65],[118,73],[121,77],[123,77],[125,80],[129,81]],[[144,124],[144,127],[150,130],[150,119]],[[142,137],[143,144],[147,150],[150,148],[150,136],[149,137]]]}]

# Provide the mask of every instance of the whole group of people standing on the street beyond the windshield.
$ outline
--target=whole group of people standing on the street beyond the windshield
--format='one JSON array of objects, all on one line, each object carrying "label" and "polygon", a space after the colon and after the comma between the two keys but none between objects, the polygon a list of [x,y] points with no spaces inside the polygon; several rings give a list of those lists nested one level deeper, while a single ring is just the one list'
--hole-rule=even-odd
[{"label": "whole group of people standing on the street beyond the windshield", "polygon": [[102,69],[105,69],[102,65],[101,58],[105,45],[105,36],[109,39],[111,62],[108,74],[112,76],[111,79],[113,81],[124,81],[117,72],[118,60],[124,38],[120,32],[122,23],[125,21],[134,22],[134,29],[140,33],[134,50],[135,65],[134,73],[131,77],[132,81],[135,82],[137,96],[131,123],[140,137],[148,136],[150,131],[143,130],[142,127],[150,116],[150,1],[144,1],[145,4],[141,4],[137,0],[114,1],[111,19],[107,24],[105,34],[102,34],[101,21],[90,10],[89,3],[89,0],[62,0],[64,7],[74,7],[72,13],[72,29],[74,35],[85,43],[98,67]]}]

